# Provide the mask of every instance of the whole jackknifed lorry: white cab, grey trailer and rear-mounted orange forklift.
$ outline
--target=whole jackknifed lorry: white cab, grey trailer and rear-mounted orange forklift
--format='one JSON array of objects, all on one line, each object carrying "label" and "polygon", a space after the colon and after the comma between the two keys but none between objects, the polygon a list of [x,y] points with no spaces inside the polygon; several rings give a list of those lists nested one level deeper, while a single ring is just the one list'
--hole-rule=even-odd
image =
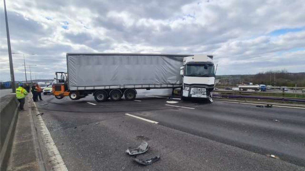
[{"label": "whole jackknifed lorry: white cab, grey trailer and rear-mounted orange forklift", "polygon": [[182,99],[212,102],[212,55],[67,53],[67,72],[56,72],[53,95],[97,102],[136,98],[137,89],[181,88]]}]

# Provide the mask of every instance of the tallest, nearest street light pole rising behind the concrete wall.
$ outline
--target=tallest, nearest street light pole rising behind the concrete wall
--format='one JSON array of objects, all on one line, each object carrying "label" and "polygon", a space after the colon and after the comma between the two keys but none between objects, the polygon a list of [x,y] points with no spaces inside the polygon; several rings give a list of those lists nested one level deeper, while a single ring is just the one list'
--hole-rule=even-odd
[{"label": "tallest, nearest street light pole rising behind the concrete wall", "polygon": [[10,64],[12,92],[16,93],[15,77],[14,77],[14,67],[13,67],[12,50],[11,50],[11,41],[10,41],[9,30],[8,30],[8,14],[6,12],[5,0],[3,0],[3,2],[4,2],[4,15],[5,15],[5,25],[6,25],[6,36],[7,36],[7,40],[8,40],[8,60],[9,60],[9,64]]}]

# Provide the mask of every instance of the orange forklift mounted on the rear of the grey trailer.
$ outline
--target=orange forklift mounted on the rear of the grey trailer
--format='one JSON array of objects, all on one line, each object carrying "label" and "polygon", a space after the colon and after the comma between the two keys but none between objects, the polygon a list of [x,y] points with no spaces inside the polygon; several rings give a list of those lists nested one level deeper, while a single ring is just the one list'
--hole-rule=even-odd
[{"label": "orange forklift mounted on the rear of the grey trailer", "polygon": [[62,99],[65,96],[69,96],[68,90],[68,73],[55,72],[56,83],[52,85],[53,95],[57,99]]}]

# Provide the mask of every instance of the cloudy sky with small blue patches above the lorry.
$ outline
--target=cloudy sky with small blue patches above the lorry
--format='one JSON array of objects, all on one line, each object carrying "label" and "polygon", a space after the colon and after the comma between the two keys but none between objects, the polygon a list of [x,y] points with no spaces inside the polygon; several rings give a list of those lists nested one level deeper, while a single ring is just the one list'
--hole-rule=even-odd
[{"label": "cloudy sky with small blue patches above the lorry", "polygon": [[[66,71],[67,52],[213,54],[217,74],[305,71],[304,0],[6,3],[12,52],[36,54],[25,56],[37,65],[32,79]],[[9,80],[3,1],[0,60],[1,80]],[[13,64],[24,80],[23,56],[13,54]]]}]

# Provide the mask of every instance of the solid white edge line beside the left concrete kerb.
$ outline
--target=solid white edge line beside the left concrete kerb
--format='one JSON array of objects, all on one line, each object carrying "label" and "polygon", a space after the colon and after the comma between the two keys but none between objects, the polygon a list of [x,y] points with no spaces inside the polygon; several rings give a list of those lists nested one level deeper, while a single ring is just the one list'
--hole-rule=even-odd
[{"label": "solid white edge line beside the left concrete kerb", "polygon": [[[38,109],[36,104],[34,103],[35,108],[36,108],[36,112],[39,114]],[[42,133],[42,138],[43,138],[43,143],[47,149],[47,153],[49,155],[50,158],[50,163],[53,167],[54,170],[60,170],[60,171],[68,171],[65,163],[63,162],[63,158],[60,155],[52,137],[51,134],[49,132],[49,130],[47,129],[46,124],[44,123],[44,121],[42,120],[41,115],[38,115],[38,121],[39,121],[39,126],[41,128],[41,133]]]}]

